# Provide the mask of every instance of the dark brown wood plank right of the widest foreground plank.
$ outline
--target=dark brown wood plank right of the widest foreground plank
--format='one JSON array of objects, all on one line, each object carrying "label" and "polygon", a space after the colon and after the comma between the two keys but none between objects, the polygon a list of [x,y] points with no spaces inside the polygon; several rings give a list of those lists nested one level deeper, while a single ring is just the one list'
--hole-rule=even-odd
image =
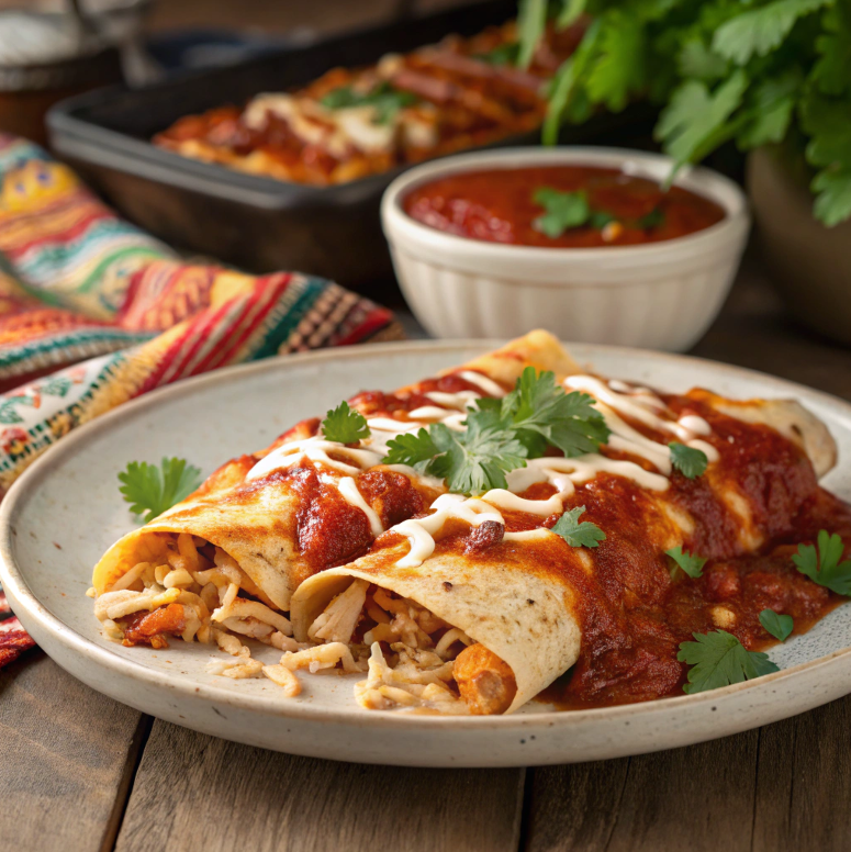
[{"label": "dark brown wood plank right of the widest foreground plank", "polygon": [[758,740],[750,731],[628,761],[535,770],[525,850],[746,852]]}]

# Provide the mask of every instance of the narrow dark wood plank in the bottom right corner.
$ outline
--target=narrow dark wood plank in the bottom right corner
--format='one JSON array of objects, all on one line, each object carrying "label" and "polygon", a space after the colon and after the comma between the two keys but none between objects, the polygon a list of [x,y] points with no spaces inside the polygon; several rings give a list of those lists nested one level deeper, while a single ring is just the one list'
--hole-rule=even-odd
[{"label": "narrow dark wood plank in the bottom right corner", "polygon": [[851,849],[851,697],[763,729],[753,852]]}]

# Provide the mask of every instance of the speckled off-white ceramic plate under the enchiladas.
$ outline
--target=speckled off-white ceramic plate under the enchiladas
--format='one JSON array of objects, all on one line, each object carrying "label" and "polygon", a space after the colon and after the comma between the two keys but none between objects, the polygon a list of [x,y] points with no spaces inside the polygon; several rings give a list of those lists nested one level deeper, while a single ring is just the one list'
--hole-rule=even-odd
[{"label": "speckled off-white ceramic plate under the enchiladas", "polygon": [[[686,746],[802,713],[851,692],[851,607],[772,651],[781,672],[699,695],[505,717],[439,718],[358,708],[360,675],[302,677],[296,699],[270,681],[204,670],[211,650],[165,651],[101,638],[86,597],[91,568],[133,526],[116,474],[134,459],[182,456],[209,473],[268,445],[296,421],[365,388],[392,389],[496,344],[416,343],[337,349],[223,370],[153,393],[72,433],[0,507],[0,580],[38,644],[85,683],[139,710],[219,737],[317,758],[412,766],[514,766],[597,760]],[[851,405],[760,373],[694,358],[576,345],[600,372],[671,391],[794,396],[825,419],[840,467],[826,485],[851,497]],[[279,653],[264,648],[261,659]]]}]

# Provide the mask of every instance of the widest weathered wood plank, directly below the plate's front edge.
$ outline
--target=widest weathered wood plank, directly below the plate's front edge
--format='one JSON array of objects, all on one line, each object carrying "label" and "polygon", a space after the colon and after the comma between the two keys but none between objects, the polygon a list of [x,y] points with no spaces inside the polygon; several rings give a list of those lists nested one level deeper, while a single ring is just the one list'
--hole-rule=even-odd
[{"label": "widest weathered wood plank, directly below the plate's front edge", "polygon": [[294,758],[156,721],[117,852],[514,852],[522,770]]}]

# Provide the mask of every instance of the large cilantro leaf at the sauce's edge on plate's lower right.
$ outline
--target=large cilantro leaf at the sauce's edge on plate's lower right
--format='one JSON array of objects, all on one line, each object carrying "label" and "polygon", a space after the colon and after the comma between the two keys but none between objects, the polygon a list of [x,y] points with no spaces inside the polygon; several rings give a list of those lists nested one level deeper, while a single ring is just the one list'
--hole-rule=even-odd
[{"label": "large cilantro leaf at the sauce's edge on plate's lower right", "polygon": [[687,663],[688,683],[683,692],[693,695],[707,690],[717,690],[732,683],[751,681],[780,669],[761,651],[748,651],[732,634],[712,630],[708,634],[692,634],[694,642],[680,642],[676,659]]}]

